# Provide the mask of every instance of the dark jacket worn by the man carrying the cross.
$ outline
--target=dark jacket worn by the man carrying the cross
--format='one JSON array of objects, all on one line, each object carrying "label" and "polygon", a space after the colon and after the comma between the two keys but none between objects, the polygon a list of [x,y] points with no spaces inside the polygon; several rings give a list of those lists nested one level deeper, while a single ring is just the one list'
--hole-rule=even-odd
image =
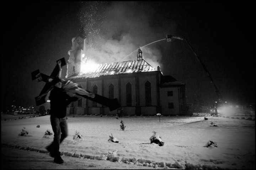
[{"label": "dark jacket worn by the man carrying the cross", "polygon": [[58,118],[66,116],[66,107],[76,100],[77,97],[70,97],[62,88],[54,87],[49,95],[50,115]]}]

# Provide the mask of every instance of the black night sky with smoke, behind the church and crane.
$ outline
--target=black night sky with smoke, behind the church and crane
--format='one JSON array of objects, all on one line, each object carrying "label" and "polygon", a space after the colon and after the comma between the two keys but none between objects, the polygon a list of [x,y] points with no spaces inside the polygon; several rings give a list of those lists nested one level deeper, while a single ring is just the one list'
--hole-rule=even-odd
[{"label": "black night sky with smoke, behind the church and crane", "polygon": [[32,81],[31,72],[50,75],[56,60],[68,61],[80,33],[98,63],[136,59],[132,52],[142,47],[150,65],[186,84],[187,103],[212,105],[213,84],[185,41],[145,46],[167,34],[186,37],[224,100],[255,103],[253,1],[10,1],[1,2],[1,11],[1,109],[35,106],[44,83]]}]

